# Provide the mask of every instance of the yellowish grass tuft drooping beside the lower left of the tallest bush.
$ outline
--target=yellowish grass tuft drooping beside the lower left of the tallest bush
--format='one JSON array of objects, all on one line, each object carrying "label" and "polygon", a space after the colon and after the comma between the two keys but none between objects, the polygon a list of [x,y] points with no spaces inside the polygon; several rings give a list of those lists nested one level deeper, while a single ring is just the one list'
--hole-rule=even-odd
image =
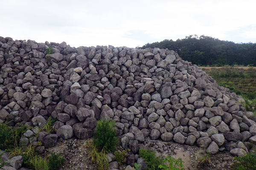
[{"label": "yellowish grass tuft drooping beside the lower left of the tallest bush", "polygon": [[97,165],[99,170],[107,170],[108,169],[108,159],[107,152],[102,149],[101,152],[98,152],[96,145],[92,140],[86,141],[86,146],[89,148],[89,156],[94,164]]}]

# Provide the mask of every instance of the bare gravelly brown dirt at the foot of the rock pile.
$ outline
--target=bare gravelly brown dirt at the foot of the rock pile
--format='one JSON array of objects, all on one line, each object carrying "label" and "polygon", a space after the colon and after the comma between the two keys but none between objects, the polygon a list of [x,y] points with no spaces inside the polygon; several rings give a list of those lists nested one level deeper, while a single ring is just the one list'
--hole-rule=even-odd
[{"label": "bare gravelly brown dirt at the foot of the rock pile", "polygon": [[[53,152],[64,156],[66,159],[61,170],[97,170],[88,156],[86,140],[81,139],[60,139],[55,147],[47,149],[45,155]],[[163,142],[158,140],[146,140],[145,147],[156,151],[157,156],[173,156],[183,160],[185,170],[230,170],[233,164],[233,156],[229,152],[219,152],[211,155],[206,161],[206,150],[197,146],[188,146],[174,142]],[[119,167],[124,170],[125,166]]]}]

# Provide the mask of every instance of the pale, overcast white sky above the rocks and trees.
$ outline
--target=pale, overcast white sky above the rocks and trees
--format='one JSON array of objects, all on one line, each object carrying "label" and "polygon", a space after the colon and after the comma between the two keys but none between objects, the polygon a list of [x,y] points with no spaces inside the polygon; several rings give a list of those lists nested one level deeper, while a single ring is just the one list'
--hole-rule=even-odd
[{"label": "pale, overcast white sky above the rocks and trees", "polygon": [[0,36],[135,48],[205,35],[256,42],[256,0],[0,0]]}]

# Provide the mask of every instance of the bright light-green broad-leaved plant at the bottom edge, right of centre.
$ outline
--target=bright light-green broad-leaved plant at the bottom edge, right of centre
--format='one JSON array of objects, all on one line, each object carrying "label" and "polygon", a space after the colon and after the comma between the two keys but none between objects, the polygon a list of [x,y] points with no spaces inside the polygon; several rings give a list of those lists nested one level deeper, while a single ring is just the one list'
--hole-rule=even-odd
[{"label": "bright light-green broad-leaved plant at the bottom edge, right of centre", "polygon": [[184,170],[182,159],[175,159],[172,156],[167,156],[163,163],[167,164],[160,164],[158,167],[161,168],[161,170]]}]

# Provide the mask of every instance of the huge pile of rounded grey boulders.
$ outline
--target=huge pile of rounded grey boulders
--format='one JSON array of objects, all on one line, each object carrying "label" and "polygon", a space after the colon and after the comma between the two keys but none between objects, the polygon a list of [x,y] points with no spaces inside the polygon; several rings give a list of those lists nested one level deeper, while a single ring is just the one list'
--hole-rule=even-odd
[{"label": "huge pile of rounded grey boulders", "polygon": [[91,137],[97,119],[115,120],[118,134],[128,134],[122,145],[135,153],[145,139],[198,144],[213,154],[235,142],[256,144],[256,119],[238,101],[172,50],[0,37],[0,122],[43,127],[57,118],[58,135],[44,136],[45,147],[58,137]]}]

